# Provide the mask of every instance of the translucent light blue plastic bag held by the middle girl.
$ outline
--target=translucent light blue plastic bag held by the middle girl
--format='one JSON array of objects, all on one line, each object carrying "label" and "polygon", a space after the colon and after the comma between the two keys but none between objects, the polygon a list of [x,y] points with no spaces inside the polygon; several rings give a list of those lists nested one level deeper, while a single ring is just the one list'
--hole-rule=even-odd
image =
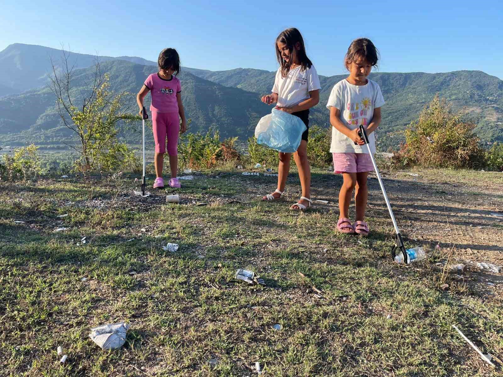
[{"label": "translucent light blue plastic bag held by the middle girl", "polygon": [[262,117],[255,128],[257,143],[267,145],[284,153],[296,152],[302,133],[307,130],[299,117],[273,109],[272,113]]}]

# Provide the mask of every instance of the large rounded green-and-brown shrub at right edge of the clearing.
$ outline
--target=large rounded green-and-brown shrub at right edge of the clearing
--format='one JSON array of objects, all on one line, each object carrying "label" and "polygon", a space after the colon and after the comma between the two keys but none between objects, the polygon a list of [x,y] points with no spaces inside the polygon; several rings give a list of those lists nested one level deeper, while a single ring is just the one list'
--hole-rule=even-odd
[{"label": "large rounded green-and-brown shrub at right edge of the clearing", "polygon": [[437,94],[419,119],[405,130],[405,144],[395,162],[401,166],[475,168],[483,166],[484,153],[473,133],[475,125],[451,114]]}]

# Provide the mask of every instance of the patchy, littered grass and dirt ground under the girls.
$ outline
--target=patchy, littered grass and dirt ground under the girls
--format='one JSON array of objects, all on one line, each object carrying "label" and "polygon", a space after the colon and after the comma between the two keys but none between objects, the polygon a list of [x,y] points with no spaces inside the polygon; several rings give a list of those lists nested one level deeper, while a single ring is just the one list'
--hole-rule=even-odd
[{"label": "patchy, littered grass and dirt ground under the girls", "polygon": [[[501,375],[503,274],[476,263],[503,264],[502,173],[385,173],[407,245],[428,249],[409,266],[391,261],[377,179],[359,238],[333,231],[342,179],[326,171],[312,196],[330,202],[305,213],[289,211],[294,172],[286,203],[260,201],[275,177],[199,173],[167,190],[180,205],[132,196],[134,177],[0,183],[0,374],[245,376],[259,361],[274,376]],[[461,275],[444,268],[458,262]],[[236,281],[239,267],[268,287]],[[120,350],[88,337],[119,321]]]}]

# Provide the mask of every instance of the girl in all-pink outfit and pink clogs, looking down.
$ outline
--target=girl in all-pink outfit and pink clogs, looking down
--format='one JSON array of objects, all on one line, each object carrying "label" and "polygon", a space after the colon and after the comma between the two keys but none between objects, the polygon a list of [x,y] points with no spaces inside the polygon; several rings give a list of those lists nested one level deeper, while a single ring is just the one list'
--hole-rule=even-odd
[{"label": "girl in all-pink outfit and pink clogs, looking down", "polygon": [[[143,99],[150,91],[152,104],[150,111],[152,113],[152,131],[155,141],[155,174],[154,189],[162,189],[164,181],[162,179],[162,163],[164,162],[164,153],[170,155],[171,187],[180,187],[180,181],[177,178],[178,170],[178,134],[187,131],[187,122],[185,119],[184,106],[182,104],[182,87],[180,80],[176,77],[180,72],[180,57],[174,48],[165,48],[159,54],[157,59],[159,71],[152,73],[147,77],[141,90],[136,96],[136,102],[141,111],[143,109]],[[175,74],[174,74],[175,73]],[[182,124],[180,125],[180,118]]]}]

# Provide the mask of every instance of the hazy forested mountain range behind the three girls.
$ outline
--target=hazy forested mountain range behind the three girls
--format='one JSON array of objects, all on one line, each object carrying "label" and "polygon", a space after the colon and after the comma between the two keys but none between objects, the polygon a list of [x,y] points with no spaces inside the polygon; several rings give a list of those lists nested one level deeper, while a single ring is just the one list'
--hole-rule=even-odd
[{"label": "hazy forested mountain range behind the three girls", "polygon": [[[146,76],[157,69],[155,62],[140,57],[97,57],[72,52],[67,56],[69,63],[75,65],[75,96],[85,91],[98,59],[103,71],[110,73],[111,88],[131,93],[134,112],[137,91]],[[54,146],[71,141],[48,87],[51,58],[59,69],[61,57],[61,50],[25,44],[13,44],[0,52],[0,144],[36,142]],[[253,135],[260,117],[271,110],[260,102],[260,97],[271,91],[274,76],[275,72],[253,68],[210,71],[182,67],[178,77],[186,115],[192,120],[191,131],[212,127],[223,137],[238,136],[241,140]],[[328,95],[332,86],[345,77],[319,76],[320,102],[311,111],[311,124],[328,124]],[[497,77],[481,71],[454,71],[372,72],[369,78],[381,86],[386,101],[377,134],[383,148],[398,146],[401,139],[394,131],[417,119],[437,92],[454,111],[461,111],[477,125],[475,130],[482,139],[503,141],[503,81]],[[131,143],[138,141],[134,132],[125,132],[123,137]]]}]

